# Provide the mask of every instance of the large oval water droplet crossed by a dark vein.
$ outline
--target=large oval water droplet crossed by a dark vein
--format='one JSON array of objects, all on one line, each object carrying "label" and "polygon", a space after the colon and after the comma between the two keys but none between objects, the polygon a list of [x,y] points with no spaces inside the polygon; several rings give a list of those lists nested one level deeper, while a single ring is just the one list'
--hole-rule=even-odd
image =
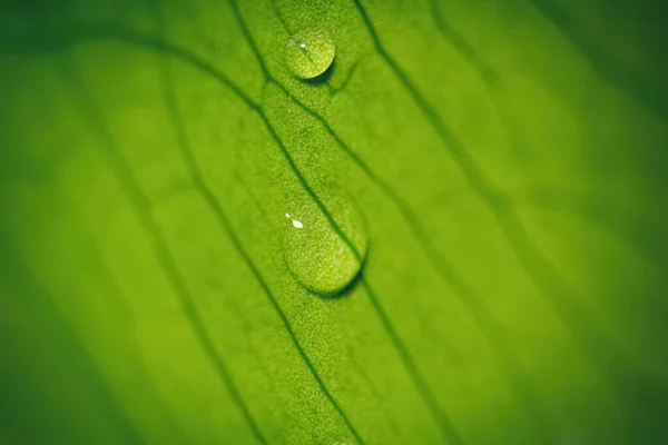
[{"label": "large oval water droplet crossed by a dark vein", "polygon": [[289,202],[282,227],[283,250],[297,283],[317,295],[333,297],[360,274],[369,235],[364,217],[351,199],[328,196],[326,208],[338,230],[307,195]]}]

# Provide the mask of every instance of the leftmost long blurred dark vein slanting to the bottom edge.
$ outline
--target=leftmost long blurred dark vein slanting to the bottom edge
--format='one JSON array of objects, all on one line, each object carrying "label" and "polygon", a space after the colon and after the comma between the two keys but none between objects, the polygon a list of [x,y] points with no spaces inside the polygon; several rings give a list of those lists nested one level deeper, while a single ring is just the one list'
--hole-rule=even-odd
[{"label": "leftmost long blurred dark vein slanting to the bottom edge", "polygon": [[256,421],[253,418],[239,390],[237,389],[224,358],[218,354],[216,347],[214,346],[213,339],[206,329],[202,315],[199,314],[190,291],[188,290],[186,280],[168,248],[165,234],[161,231],[158,222],[155,219],[155,216],[151,212],[150,201],[141,190],[141,187],[135,178],[131,169],[128,167],[127,161],[122,158],[121,151],[117,147],[110,130],[104,121],[100,109],[85,88],[86,83],[78,70],[78,67],[76,66],[75,60],[69,59],[67,63],[62,63],[59,68],[59,72],[62,75],[61,78],[63,85],[72,92],[72,97],[75,98],[76,105],[80,110],[80,115],[85,125],[90,128],[94,135],[99,137],[101,142],[101,145],[98,146],[100,148],[100,152],[110,164],[111,170],[119,186],[130,200],[141,225],[149,235],[156,257],[160,266],[164,268],[165,275],[179,299],[181,310],[193,327],[193,333],[195,334],[203,353],[212,363],[218,378],[227,388],[234,403],[242,412],[255,438],[261,444],[266,445],[267,441],[257,426]]}]

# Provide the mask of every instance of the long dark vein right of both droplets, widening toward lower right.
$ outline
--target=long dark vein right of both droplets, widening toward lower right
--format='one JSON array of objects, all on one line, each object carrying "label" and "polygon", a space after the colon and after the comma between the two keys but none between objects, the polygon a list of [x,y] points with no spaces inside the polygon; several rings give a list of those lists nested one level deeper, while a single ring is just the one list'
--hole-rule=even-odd
[{"label": "long dark vein right of both droplets, widening toward lower right", "polygon": [[352,1],[369,30],[376,51],[385,60],[416,107],[434,128],[452,160],[458,164],[464,174],[472,190],[480,196],[492,212],[521,267],[560,316],[564,326],[568,327],[576,345],[580,350],[587,353],[584,356],[591,360],[602,380],[622,400],[632,405],[632,399],[637,397],[629,394],[625,382],[635,372],[631,370],[633,367],[628,363],[626,355],[595,325],[595,317],[578,301],[579,297],[574,289],[554,269],[550,261],[544,258],[536,246],[536,243],[529,237],[522,222],[515,215],[511,202],[497,186],[483,176],[477,162],[465,150],[463,142],[439,118],[431,103],[422,96],[404,70],[385,50],[361,1]]}]

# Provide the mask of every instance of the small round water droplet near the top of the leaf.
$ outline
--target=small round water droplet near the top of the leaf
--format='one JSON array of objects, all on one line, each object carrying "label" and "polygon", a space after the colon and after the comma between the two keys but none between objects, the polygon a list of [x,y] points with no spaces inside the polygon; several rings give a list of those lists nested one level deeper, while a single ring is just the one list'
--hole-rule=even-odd
[{"label": "small round water droplet near the top of the leaf", "polygon": [[294,34],[285,49],[285,62],[302,79],[318,77],[330,68],[336,55],[334,41],[322,30]]}]

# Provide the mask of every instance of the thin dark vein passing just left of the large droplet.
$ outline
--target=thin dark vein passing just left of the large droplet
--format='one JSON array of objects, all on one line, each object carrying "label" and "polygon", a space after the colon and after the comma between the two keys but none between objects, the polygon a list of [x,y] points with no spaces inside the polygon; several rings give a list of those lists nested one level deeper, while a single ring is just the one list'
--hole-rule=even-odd
[{"label": "thin dark vein passing just left of the large droplet", "polygon": [[[228,236],[228,238],[230,239],[235,249],[242,256],[242,258],[244,259],[244,263],[246,264],[246,266],[248,267],[248,269],[250,270],[250,273],[253,274],[253,276],[259,284],[261,288],[263,289],[263,291],[269,299],[269,303],[276,310],[276,314],[279,316],[281,322],[283,323],[283,326],[287,330],[292,343],[294,344],[295,348],[297,349],[297,353],[304,360],[304,364],[307,366],[308,370],[311,372],[311,375],[315,379],[320,390],[327,398],[327,400],[330,402],[332,407],[336,411],[336,413],[341,416],[341,418],[344,421],[346,427],[355,436],[355,439],[361,445],[364,445],[364,441],[362,439],[362,437],[360,436],[360,434],[353,426],[352,422],[350,421],[347,415],[344,413],[343,408],[341,407],[338,402],[334,398],[332,393],[330,393],[330,389],[327,389],[327,387],[326,387],[325,383],[323,382],[322,377],[320,376],[317,369],[315,368],[315,366],[311,362],[311,358],[306,354],[306,350],[299,343],[297,335],[294,332],[294,328],[292,327],[289,319],[287,318],[287,315],[283,310],[283,307],[281,306],[281,304],[274,296],[274,293],[269,289],[269,286],[267,285],[265,279],[262,277],[262,274],[259,273],[259,269],[257,268],[257,266],[250,258],[250,255],[244,248],[242,240],[239,239],[238,235],[236,234],[236,230],[234,229],[232,222],[229,221],[229,218],[223,210],[220,202],[218,201],[215,194],[212,191],[212,189],[206,184],[206,180],[204,179],[204,176],[202,174],[202,167],[200,167],[200,165],[197,160],[197,157],[190,146],[189,138],[186,135],[186,129],[181,125],[183,119],[180,117],[180,112],[179,112],[179,109],[176,103],[176,98],[175,98],[173,89],[171,89],[171,80],[170,80],[169,71],[165,67],[163,72],[164,72],[163,87],[166,92],[166,105],[169,110],[169,118],[170,118],[171,125],[176,131],[176,138],[177,138],[177,145],[179,147],[179,151],[186,161],[186,167],[193,177],[193,184],[194,184],[196,190],[205,198],[208,207],[214,212],[216,220],[218,221],[218,225],[223,228],[225,234]],[[267,128],[271,128],[271,127],[267,125]],[[271,130],[271,131],[273,131],[273,130]]]}]

